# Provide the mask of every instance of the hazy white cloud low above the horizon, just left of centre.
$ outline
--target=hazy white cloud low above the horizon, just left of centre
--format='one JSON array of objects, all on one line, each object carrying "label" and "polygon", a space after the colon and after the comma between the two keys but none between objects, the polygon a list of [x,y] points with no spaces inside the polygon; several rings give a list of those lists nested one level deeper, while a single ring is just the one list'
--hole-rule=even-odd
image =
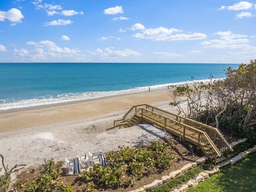
[{"label": "hazy white cloud low above the horizon, just left of centre", "polygon": [[96,49],[95,52],[90,51],[92,55],[100,55],[102,58],[118,58],[118,57],[128,57],[128,56],[140,56],[139,52],[136,52],[134,50],[130,49],[125,49],[125,50],[118,50],[114,51],[112,50],[113,48],[105,48],[104,50],[102,49]]}]

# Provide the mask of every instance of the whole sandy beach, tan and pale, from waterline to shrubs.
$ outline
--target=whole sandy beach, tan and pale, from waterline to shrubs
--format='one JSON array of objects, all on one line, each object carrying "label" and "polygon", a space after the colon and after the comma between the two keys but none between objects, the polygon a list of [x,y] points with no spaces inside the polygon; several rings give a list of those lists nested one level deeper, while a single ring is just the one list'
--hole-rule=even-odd
[{"label": "whole sandy beach, tan and pale, from waterline to shrubs", "polygon": [[142,103],[175,112],[168,105],[169,94],[159,90],[2,113],[0,153],[9,166],[28,167],[42,164],[45,158],[59,161],[89,151],[118,150],[119,145],[148,144],[166,133],[151,125],[114,129],[113,120]]}]

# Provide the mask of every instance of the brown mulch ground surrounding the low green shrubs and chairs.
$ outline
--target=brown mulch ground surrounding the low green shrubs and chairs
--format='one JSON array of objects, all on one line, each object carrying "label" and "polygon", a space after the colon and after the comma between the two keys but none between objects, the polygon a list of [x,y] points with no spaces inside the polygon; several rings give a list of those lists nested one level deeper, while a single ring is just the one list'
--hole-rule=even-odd
[{"label": "brown mulch ground surrounding the low green shrubs and chairs", "polygon": [[[151,174],[150,176],[145,176],[141,180],[137,180],[133,182],[133,186],[128,188],[120,188],[120,189],[98,189],[98,191],[106,191],[106,192],[127,192],[144,185],[150,184],[155,179],[161,179],[162,176],[169,175],[170,172],[178,170],[182,168],[184,165],[194,162],[198,158],[202,157],[203,154],[196,152],[196,146],[190,144],[189,142],[180,142],[179,138],[176,136],[168,136],[166,138],[160,138],[158,140],[161,143],[170,143],[171,146],[175,145],[175,148],[170,149],[170,153],[174,155],[173,164],[168,167],[166,170],[163,170],[159,173]],[[31,167],[20,174],[17,175],[17,180],[22,182],[30,182],[34,180],[40,171],[42,170],[42,166],[40,167]],[[69,175],[66,173],[66,168],[60,169],[61,177],[60,182],[64,182],[65,185],[72,184],[72,189],[75,192],[82,192],[82,184],[79,181],[78,175]],[[97,188],[96,188],[97,189]]]}]

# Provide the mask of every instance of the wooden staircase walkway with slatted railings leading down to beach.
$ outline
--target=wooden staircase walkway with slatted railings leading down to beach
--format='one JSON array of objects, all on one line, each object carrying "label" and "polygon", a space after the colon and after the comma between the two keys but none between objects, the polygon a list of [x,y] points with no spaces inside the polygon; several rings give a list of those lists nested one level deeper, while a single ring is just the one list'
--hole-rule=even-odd
[{"label": "wooden staircase walkway with slatted railings leading down to beach", "polygon": [[122,119],[114,120],[114,127],[128,128],[141,121],[150,122],[180,136],[183,141],[195,144],[215,165],[226,161],[229,151],[233,151],[218,129],[148,104],[133,106]]}]

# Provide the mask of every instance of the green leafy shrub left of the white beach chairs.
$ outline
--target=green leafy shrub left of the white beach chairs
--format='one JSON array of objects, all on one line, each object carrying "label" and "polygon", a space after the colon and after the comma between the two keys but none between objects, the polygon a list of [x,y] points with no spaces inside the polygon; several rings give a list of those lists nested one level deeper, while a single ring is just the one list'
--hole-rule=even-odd
[{"label": "green leafy shrub left of the white beach chairs", "polygon": [[56,172],[53,159],[48,160],[42,173],[33,181],[20,184],[20,190],[25,192],[74,192],[71,186],[65,186],[58,182],[60,173]]}]

